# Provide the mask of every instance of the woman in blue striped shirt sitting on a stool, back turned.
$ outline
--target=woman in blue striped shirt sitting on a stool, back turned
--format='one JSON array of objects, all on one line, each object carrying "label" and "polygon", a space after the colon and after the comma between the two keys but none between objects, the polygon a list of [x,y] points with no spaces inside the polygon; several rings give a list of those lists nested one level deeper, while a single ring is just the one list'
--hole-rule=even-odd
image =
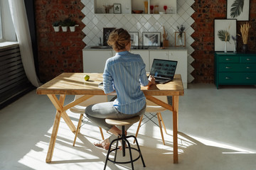
[{"label": "woman in blue striped shirt sitting on a stool, back turned", "polygon": [[[146,77],[145,64],[140,55],[129,52],[131,36],[122,28],[110,33],[107,44],[117,52],[107,60],[103,73],[103,88],[105,94],[116,91],[117,98],[113,102],[97,103],[88,106],[85,114],[92,123],[111,132],[106,140],[95,143],[97,147],[108,149],[110,142],[122,134],[121,128],[108,125],[105,118],[127,119],[136,115],[143,115],[146,110],[146,98],[141,91],[142,86],[154,84],[154,77]],[[125,126],[125,130],[131,125]]]}]

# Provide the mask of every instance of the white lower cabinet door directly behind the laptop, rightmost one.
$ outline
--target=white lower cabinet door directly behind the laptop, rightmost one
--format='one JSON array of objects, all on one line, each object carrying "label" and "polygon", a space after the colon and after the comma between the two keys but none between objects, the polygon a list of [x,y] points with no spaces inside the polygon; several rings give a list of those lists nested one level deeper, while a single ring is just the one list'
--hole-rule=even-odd
[{"label": "white lower cabinet door directly behind the laptop, rightmost one", "polygon": [[187,87],[188,82],[188,55],[187,51],[169,51],[168,60],[178,61],[175,74],[181,74],[181,79],[184,88]]}]

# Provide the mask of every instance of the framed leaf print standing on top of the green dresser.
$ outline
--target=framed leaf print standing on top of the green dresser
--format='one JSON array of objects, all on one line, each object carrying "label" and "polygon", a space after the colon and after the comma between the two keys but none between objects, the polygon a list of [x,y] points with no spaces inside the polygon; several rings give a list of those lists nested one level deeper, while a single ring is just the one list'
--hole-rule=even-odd
[{"label": "framed leaf print standing on top of the green dresser", "polygon": [[[227,51],[234,50],[232,36],[237,35],[236,19],[215,19],[214,20],[214,50],[224,51],[225,44]],[[228,43],[225,43],[228,42]]]}]

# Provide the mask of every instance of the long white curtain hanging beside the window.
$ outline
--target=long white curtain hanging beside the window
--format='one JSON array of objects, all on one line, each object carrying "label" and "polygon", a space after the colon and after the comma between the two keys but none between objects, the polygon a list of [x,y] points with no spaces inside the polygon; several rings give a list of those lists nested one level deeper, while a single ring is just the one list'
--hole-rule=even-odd
[{"label": "long white curtain hanging beside the window", "polygon": [[11,18],[14,22],[18,44],[21,51],[21,60],[26,72],[28,80],[33,86],[41,86],[41,83],[36,76],[36,69],[33,60],[33,50],[31,43],[31,35],[28,28],[28,19],[26,16],[26,8],[23,0],[9,0]]}]

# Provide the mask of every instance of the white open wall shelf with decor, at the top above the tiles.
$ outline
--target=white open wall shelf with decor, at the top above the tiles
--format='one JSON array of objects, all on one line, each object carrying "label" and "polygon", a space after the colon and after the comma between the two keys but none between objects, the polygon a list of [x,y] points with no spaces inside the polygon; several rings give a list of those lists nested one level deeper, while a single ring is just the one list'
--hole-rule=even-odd
[{"label": "white open wall shelf with decor, at the top above the tiles", "polygon": [[[144,1],[147,1],[147,12],[145,12]],[[105,6],[112,6],[113,4],[121,4],[121,13],[134,13],[134,14],[176,14],[177,13],[177,1],[176,0],[94,0],[95,13],[106,13]],[[150,6],[154,6],[151,10]],[[158,7],[157,7],[158,6]],[[166,11],[164,11],[164,6],[166,6]],[[158,8],[158,9],[157,9]],[[159,12],[157,12],[159,11]],[[114,13],[113,7],[110,8],[109,13]],[[117,14],[119,15],[119,14]]]}]

